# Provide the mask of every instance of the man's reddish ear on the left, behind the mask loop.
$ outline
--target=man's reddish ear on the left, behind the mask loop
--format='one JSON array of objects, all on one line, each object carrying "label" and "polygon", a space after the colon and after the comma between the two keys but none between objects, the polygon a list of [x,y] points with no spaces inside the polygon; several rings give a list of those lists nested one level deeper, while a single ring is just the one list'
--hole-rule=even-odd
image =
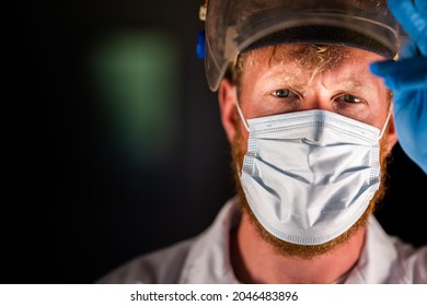
[{"label": "man's reddish ear on the left, behind the mask loop", "polygon": [[235,134],[235,96],[234,85],[227,79],[222,79],[218,92],[219,108],[221,114],[222,127],[226,130],[227,138],[232,143]]}]

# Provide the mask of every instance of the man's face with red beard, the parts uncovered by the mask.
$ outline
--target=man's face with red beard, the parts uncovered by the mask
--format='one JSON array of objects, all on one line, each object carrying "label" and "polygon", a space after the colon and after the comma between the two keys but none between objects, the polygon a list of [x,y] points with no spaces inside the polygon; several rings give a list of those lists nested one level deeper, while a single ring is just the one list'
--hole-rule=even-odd
[{"label": "man's face with red beard, the parts uncovered by the mask", "polygon": [[[308,109],[324,109],[382,129],[390,106],[389,92],[381,79],[369,71],[369,63],[383,58],[348,47],[314,47],[282,45],[265,47],[244,55],[238,81],[238,98],[246,119]],[[226,128],[227,129],[227,128]],[[246,153],[247,132],[235,118],[232,140],[233,162],[241,167]],[[385,157],[395,140],[389,133],[381,140],[381,164],[385,174]],[[229,137],[230,138],[230,137]],[[238,175],[238,174],[236,174]],[[384,179],[382,179],[382,183]],[[346,240],[372,213],[383,193],[383,185],[371,200],[362,217],[346,233],[319,246],[299,246],[281,242],[256,221],[238,179],[243,208],[261,235],[285,255],[311,258]]]}]

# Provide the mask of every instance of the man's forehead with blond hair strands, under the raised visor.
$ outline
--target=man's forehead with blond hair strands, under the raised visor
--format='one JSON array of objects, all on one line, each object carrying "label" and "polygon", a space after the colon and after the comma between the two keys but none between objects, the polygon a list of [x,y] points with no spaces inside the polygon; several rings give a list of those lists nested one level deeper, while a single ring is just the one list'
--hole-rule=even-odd
[{"label": "man's forehead with blond hair strands, under the raised visor", "polygon": [[315,76],[320,76],[322,82],[330,85],[381,86],[382,81],[370,72],[369,64],[383,59],[377,54],[345,46],[268,46],[241,55],[235,80],[240,85],[249,84],[251,87],[284,80],[307,86]]}]

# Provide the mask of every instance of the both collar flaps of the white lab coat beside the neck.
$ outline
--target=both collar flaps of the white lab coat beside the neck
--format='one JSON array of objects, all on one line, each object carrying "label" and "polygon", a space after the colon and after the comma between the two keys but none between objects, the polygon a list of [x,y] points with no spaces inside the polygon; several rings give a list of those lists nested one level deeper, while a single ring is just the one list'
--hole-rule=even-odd
[{"label": "both collar flaps of the white lab coat beside the neck", "polygon": [[[234,197],[224,204],[214,224],[195,240],[180,283],[239,283],[230,261],[230,234],[239,225],[240,217],[239,199]],[[408,283],[402,267],[393,239],[371,216],[361,256],[345,283]]]}]

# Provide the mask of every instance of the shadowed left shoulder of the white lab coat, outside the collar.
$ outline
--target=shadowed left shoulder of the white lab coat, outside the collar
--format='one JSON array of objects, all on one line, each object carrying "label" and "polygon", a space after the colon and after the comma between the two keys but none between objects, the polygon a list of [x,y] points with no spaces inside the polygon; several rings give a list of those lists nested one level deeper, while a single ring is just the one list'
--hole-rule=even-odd
[{"label": "shadowed left shoulder of the white lab coat, outside the collar", "polygon": [[104,275],[99,284],[176,283],[194,239],[139,256]]}]

